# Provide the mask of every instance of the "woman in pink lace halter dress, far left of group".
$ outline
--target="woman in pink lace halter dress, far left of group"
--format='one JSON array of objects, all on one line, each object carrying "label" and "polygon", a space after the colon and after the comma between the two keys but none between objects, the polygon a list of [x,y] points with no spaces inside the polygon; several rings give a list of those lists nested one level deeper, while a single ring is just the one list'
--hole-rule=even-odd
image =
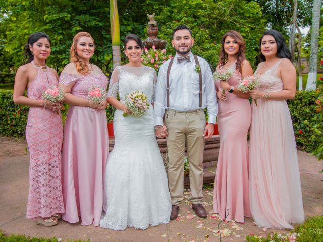
[{"label": "woman in pink lace halter dress, far left of group", "polygon": [[[38,218],[45,226],[57,224],[64,212],[61,185],[63,138],[61,104],[41,98],[42,92],[58,86],[57,72],[46,66],[50,39],[44,33],[30,35],[25,47],[28,63],[15,77],[14,102],[30,106],[26,139],[30,152],[27,218]],[[27,97],[24,92],[27,89]]]}]

